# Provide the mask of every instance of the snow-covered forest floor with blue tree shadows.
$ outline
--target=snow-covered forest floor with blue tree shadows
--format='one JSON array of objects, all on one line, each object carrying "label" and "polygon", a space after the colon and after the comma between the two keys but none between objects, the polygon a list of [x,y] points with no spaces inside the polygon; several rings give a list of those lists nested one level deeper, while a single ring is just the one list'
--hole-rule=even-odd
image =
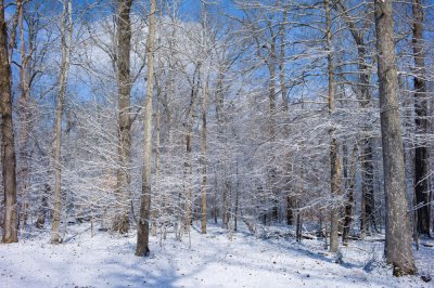
[{"label": "snow-covered forest floor with blue tree shadows", "polygon": [[[284,237],[285,227],[268,228],[258,239],[209,225],[192,228],[190,240],[173,234],[152,254],[135,257],[136,235],[95,232],[88,224],[68,227],[67,241],[50,245],[49,235],[0,245],[0,287],[434,287],[420,275],[392,277],[381,262],[382,243],[353,241],[342,248],[342,263],[323,243]],[[191,243],[191,247],[190,247]],[[418,267],[434,276],[434,248],[416,252]]]}]

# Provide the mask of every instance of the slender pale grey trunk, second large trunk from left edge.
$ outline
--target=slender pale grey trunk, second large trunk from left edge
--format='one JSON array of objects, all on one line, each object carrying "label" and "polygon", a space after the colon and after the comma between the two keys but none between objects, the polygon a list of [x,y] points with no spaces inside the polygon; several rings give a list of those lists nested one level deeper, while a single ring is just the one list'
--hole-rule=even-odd
[{"label": "slender pale grey trunk, second large trunk from left edge", "polygon": [[[63,1],[62,14],[62,63],[59,79],[59,94],[54,126],[54,205],[53,205],[53,222],[51,227],[51,243],[59,244],[62,241],[60,236],[61,210],[62,210],[62,118],[63,104],[66,93],[67,76],[69,70],[71,42],[73,35],[73,8],[71,0]],[[67,26],[66,26],[67,25]]]}]

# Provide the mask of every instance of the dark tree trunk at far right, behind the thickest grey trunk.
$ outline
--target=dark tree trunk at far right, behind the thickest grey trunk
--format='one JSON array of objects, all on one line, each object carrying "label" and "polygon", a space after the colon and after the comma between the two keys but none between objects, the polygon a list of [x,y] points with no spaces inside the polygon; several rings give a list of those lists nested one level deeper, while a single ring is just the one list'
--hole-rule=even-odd
[{"label": "dark tree trunk at far right, behind the thickest grey trunk", "polygon": [[418,209],[418,233],[430,235],[429,209],[429,150],[424,136],[427,133],[426,120],[426,83],[425,83],[425,52],[423,49],[423,6],[421,0],[413,0],[413,53],[414,53],[414,112],[416,130],[422,135],[422,141],[417,143],[414,149],[414,194]]}]

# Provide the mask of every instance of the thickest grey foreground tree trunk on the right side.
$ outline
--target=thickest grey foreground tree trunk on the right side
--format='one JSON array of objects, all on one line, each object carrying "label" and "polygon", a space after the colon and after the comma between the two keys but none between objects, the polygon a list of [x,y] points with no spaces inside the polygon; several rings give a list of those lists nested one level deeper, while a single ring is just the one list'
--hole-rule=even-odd
[{"label": "thickest grey foreground tree trunk on the right side", "polygon": [[391,0],[375,0],[380,113],[386,202],[386,261],[394,275],[416,273],[406,194],[403,138],[399,123],[394,21]]}]

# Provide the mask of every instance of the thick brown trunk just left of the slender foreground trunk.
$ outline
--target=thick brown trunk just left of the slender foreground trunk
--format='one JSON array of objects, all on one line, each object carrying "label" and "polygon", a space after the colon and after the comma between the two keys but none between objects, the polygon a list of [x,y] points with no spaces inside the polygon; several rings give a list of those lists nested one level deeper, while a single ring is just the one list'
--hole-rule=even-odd
[{"label": "thick brown trunk just left of the slender foreground trunk", "polygon": [[116,193],[120,198],[120,207],[114,221],[113,230],[127,233],[129,230],[129,166],[131,157],[131,116],[130,116],[130,50],[131,50],[131,21],[130,11],[133,0],[117,1],[117,30],[116,30],[116,68],[118,93],[118,157]]}]

